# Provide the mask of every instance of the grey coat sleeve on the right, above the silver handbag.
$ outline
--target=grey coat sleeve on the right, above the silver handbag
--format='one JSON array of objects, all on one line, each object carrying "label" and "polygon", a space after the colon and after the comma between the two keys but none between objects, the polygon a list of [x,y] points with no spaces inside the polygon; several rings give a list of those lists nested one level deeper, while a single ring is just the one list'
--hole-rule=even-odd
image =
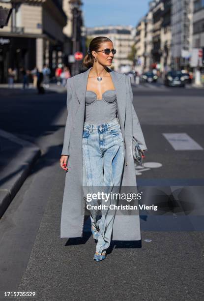
[{"label": "grey coat sleeve on the right, above the silver handbag", "polygon": [[144,151],[147,151],[145,138],[143,135],[143,131],[140,125],[140,121],[138,119],[138,116],[135,112],[134,106],[133,106],[133,91],[131,86],[131,79],[128,77],[128,92],[130,93],[130,100],[132,102],[132,120],[133,120],[133,137],[137,140],[140,148]]}]

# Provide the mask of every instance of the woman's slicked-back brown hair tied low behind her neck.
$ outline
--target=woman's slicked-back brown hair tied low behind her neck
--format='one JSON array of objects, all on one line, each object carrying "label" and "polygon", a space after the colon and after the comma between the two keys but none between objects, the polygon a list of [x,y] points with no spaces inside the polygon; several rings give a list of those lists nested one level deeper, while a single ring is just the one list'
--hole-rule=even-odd
[{"label": "woman's slicked-back brown hair tied low behind her neck", "polygon": [[87,55],[84,57],[83,60],[83,65],[85,67],[90,68],[93,66],[94,57],[92,56],[91,51],[99,50],[101,44],[104,42],[112,42],[112,40],[106,36],[97,36],[91,40],[88,48],[89,53],[87,52]]}]

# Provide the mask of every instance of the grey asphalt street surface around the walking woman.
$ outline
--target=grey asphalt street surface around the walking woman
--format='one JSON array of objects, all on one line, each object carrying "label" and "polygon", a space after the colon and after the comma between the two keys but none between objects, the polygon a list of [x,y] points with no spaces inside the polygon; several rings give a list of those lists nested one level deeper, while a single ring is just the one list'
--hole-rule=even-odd
[{"label": "grey asphalt street surface around the walking woman", "polygon": [[[148,148],[138,185],[204,186],[204,89],[132,89]],[[66,90],[1,92],[0,128],[42,154],[0,219],[0,290],[36,292],[37,301],[202,301],[203,216],[143,215],[141,243],[112,241],[95,262],[89,219],[83,238],[60,239]]]}]

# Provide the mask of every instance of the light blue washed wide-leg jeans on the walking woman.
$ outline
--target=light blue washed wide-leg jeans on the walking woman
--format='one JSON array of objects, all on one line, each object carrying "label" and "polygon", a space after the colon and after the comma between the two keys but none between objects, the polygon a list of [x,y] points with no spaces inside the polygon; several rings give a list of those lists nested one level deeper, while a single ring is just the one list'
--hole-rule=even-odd
[{"label": "light blue washed wide-leg jeans on the walking woman", "polygon": [[[103,124],[84,123],[83,139],[83,189],[86,193],[97,193],[99,188],[105,193],[117,193],[123,170],[124,145],[118,118]],[[103,186],[103,187],[101,187]],[[92,201],[86,204],[93,205]],[[116,210],[109,209],[110,204],[117,204],[117,200],[100,200],[108,209],[101,211],[101,218],[97,210],[90,210],[91,226],[99,229],[96,252],[106,250],[111,242],[113,223]],[[95,204],[99,204],[98,200]],[[94,204],[94,205],[95,205]]]}]

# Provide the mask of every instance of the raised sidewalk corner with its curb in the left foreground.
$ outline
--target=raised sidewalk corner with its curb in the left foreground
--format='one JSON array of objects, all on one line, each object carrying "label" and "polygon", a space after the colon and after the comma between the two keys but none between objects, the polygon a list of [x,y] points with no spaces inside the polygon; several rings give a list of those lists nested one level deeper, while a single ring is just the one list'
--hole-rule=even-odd
[{"label": "raised sidewalk corner with its curb in the left foreground", "polygon": [[0,217],[40,154],[36,145],[0,129]]}]

